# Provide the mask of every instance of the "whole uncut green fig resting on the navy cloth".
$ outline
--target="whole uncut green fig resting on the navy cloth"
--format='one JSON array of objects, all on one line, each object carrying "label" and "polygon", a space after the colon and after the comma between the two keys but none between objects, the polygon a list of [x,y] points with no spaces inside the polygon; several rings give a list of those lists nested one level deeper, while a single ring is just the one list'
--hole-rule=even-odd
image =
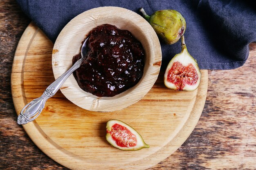
[{"label": "whole uncut green fig resting on the navy cloth", "polygon": [[180,40],[186,30],[186,21],[178,11],[160,10],[151,16],[147,15],[143,8],[139,11],[166,44],[174,44]]}]

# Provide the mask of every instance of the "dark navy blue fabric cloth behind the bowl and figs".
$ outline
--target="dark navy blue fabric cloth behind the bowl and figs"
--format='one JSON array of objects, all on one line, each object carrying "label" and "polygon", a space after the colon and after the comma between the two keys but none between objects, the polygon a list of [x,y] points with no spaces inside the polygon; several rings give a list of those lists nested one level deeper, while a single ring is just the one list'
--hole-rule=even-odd
[{"label": "dark navy blue fabric cloth behind the bowl and figs", "polygon": [[[256,11],[245,0],[17,0],[21,9],[54,42],[76,15],[95,7],[116,6],[151,15],[161,9],[179,11],[186,20],[184,33],[189,53],[200,69],[242,66],[249,43],[256,41]],[[162,69],[181,51],[180,41],[162,46]]]}]

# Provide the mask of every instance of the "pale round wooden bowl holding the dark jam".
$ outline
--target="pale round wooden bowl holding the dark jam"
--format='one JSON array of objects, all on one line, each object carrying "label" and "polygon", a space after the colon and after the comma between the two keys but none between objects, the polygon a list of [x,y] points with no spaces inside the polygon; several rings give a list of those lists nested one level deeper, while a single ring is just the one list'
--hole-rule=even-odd
[{"label": "pale round wooden bowl holding the dark jam", "polygon": [[141,42],[145,50],[144,74],[127,91],[114,97],[97,97],[83,91],[73,75],[61,87],[61,92],[77,106],[91,111],[115,111],[139,101],[155,83],[162,60],[159,40],[150,24],[137,13],[119,7],[94,8],[72,19],[58,35],[52,52],[55,79],[72,66],[72,57],[80,53],[81,42],[90,31],[101,24],[112,24],[128,30]]}]

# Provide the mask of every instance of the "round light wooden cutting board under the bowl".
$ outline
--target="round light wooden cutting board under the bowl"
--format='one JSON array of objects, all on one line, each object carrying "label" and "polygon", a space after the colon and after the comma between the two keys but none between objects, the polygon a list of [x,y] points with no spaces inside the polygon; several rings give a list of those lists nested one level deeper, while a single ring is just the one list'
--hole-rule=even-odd
[{"label": "round light wooden cutting board under the bowl", "polygon": [[[52,49],[52,42],[43,32],[29,24],[16,49],[11,73],[17,115],[55,80]],[[139,102],[108,113],[79,108],[58,91],[36,121],[23,127],[38,148],[67,168],[144,170],[171,155],[189,137],[202,113],[207,86],[207,70],[202,70],[201,84],[192,92],[165,88],[160,73]],[[105,139],[109,119],[119,119],[135,128],[150,148],[122,151],[110,146]]]}]

